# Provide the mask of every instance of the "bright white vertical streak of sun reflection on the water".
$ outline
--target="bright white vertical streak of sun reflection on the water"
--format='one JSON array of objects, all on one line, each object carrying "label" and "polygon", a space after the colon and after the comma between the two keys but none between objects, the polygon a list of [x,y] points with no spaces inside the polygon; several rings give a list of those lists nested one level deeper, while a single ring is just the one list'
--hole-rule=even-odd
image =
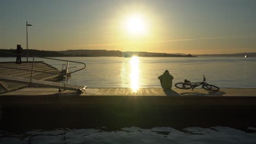
[{"label": "bright white vertical streak of sun reflection on the water", "polygon": [[131,57],[131,88],[132,92],[137,92],[139,89],[139,58],[137,56]]}]

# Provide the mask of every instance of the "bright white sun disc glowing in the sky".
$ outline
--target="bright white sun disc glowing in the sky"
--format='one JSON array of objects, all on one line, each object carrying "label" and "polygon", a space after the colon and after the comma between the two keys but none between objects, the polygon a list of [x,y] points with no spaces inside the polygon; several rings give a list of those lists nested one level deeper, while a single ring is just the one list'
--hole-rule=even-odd
[{"label": "bright white sun disc glowing in the sky", "polygon": [[125,22],[127,32],[132,35],[142,35],[146,32],[146,25],[143,17],[130,16]]}]

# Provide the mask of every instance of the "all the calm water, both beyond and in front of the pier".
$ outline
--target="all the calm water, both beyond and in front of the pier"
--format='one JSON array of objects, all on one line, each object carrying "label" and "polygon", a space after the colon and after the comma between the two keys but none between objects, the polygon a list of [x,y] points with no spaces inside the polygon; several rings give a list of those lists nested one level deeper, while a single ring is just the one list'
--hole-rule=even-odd
[{"label": "all the calm water, both beyond and in front of the pier", "polygon": [[[249,57],[62,57],[86,63],[86,69],[72,74],[69,83],[94,87],[160,87],[158,76],[168,69],[173,83],[184,79],[202,81],[220,88],[256,88],[256,58]],[[0,58],[1,62],[15,58]],[[25,59],[23,59],[24,61]],[[42,60],[61,70],[62,62]],[[70,67],[82,67],[70,64]],[[72,68],[75,70],[77,68]],[[0,130],[0,143],[256,143],[256,128],[229,127],[142,129],[138,127],[53,129],[12,133]]]}]

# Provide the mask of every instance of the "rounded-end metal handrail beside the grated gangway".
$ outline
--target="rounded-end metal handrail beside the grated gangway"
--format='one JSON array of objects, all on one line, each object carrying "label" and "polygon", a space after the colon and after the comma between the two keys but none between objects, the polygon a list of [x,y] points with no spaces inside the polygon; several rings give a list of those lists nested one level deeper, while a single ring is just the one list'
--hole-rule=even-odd
[{"label": "rounded-end metal handrail beside the grated gangway", "polygon": [[[1,51],[0,51],[1,52]],[[22,55],[22,54],[17,54],[17,53],[10,53],[10,52],[1,52],[1,53],[6,53],[6,54],[9,54],[9,55],[20,55],[20,56],[27,56],[27,55]],[[36,56],[33,56],[33,63],[32,63],[32,68],[31,70],[27,70],[27,71],[31,71],[31,78],[30,80],[32,80],[32,73],[33,73],[33,65],[34,65],[34,57]],[[37,57],[37,58],[45,58],[45,59],[52,59],[52,60],[55,60],[55,61],[63,61],[63,62],[67,62],[67,68],[66,68],[66,77],[65,77],[65,85],[66,85],[66,81],[67,81],[67,75],[68,75],[68,63],[69,62],[72,62],[72,63],[80,63],[80,64],[84,64],[84,67],[81,68],[81,69],[78,69],[78,70],[75,70],[75,71],[72,71],[70,72],[69,74],[72,74],[72,73],[75,73],[77,71],[80,71],[80,70],[83,70],[86,68],[86,64],[85,63],[82,63],[82,62],[75,62],[75,61],[67,61],[67,60],[63,60],[63,59],[57,59],[57,58],[49,58],[49,57]],[[4,68],[8,68],[8,67],[4,67]],[[12,68],[12,69],[18,69],[18,68]],[[26,70],[26,69],[22,69],[22,70]],[[47,72],[44,72],[44,71],[38,71],[38,70],[34,70],[34,71],[37,71],[37,72],[40,72],[40,73],[47,73]],[[56,73],[49,73],[49,74],[56,74]],[[62,74],[59,74],[59,75],[62,75]]]}]

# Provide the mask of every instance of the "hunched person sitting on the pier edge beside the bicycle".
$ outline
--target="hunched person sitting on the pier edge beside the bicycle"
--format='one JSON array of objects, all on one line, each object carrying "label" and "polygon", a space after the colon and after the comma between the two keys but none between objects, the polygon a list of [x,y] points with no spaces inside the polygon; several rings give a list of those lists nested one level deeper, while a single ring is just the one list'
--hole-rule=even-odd
[{"label": "hunched person sitting on the pier edge beside the bicycle", "polygon": [[168,70],[165,70],[164,74],[160,75],[158,79],[161,82],[161,86],[164,89],[171,89],[172,88],[172,80],[173,76],[170,75]]}]

